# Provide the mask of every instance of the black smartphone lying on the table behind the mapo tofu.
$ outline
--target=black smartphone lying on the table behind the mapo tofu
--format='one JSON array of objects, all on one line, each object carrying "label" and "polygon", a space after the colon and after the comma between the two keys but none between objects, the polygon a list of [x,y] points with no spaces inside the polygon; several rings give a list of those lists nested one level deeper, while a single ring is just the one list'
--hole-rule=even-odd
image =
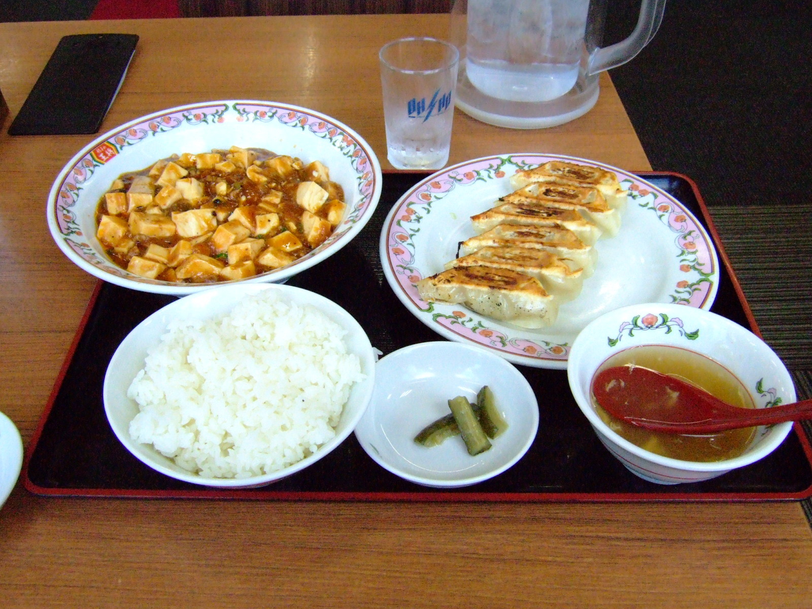
[{"label": "black smartphone lying on the table behind the mapo tofu", "polygon": [[63,37],[42,70],[11,136],[95,133],[127,74],[136,34],[74,34]]}]

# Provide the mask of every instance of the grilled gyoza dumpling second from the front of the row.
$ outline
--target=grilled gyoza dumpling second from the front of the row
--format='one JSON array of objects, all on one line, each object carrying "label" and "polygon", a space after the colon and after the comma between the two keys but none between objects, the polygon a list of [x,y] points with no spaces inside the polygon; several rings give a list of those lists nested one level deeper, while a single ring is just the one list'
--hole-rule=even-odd
[{"label": "grilled gyoza dumpling second from the front of the row", "polygon": [[573,270],[555,254],[542,249],[503,247],[482,248],[476,252],[448,262],[447,269],[461,266],[489,266],[514,270],[538,279],[548,294],[562,300],[572,300],[581,293],[584,272]]}]

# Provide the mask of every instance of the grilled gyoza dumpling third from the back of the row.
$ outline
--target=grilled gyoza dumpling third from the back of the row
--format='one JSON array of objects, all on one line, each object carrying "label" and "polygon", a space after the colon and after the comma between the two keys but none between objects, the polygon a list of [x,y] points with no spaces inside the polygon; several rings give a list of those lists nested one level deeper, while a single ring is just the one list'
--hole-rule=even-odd
[{"label": "grilled gyoza dumpling third from the back of the row", "polygon": [[473,230],[477,233],[490,231],[499,224],[516,224],[527,227],[564,227],[575,233],[587,245],[594,245],[603,231],[586,221],[572,209],[555,209],[541,205],[503,203],[482,214],[471,216]]}]

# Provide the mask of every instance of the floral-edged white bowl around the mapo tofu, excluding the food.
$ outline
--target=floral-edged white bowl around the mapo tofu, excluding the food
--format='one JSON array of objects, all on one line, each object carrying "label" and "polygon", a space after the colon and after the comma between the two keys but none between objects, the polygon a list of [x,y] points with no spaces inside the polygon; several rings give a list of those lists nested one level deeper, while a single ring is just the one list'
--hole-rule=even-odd
[{"label": "floral-edged white bowl around the mapo tofu, excluding the food", "polygon": [[117,266],[96,237],[96,210],[114,179],[173,154],[212,149],[261,148],[320,161],[344,192],[346,209],[330,237],[287,266],[240,283],[281,283],[330,257],[365,226],[378,205],[382,175],[373,149],[343,123],[299,106],[227,100],[177,106],[142,116],[93,140],[60,171],[48,196],[50,233],[81,269],[122,287],[185,296],[210,283],[147,279]]}]

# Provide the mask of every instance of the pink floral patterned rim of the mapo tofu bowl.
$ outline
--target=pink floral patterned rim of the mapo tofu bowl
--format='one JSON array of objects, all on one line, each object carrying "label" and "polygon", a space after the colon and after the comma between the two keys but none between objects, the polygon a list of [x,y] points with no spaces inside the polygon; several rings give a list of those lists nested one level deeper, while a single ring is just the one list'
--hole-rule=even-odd
[{"label": "pink floral patterned rim of the mapo tofu bowl", "polygon": [[[248,279],[239,279],[233,281],[223,281],[218,282],[217,285],[230,285],[234,283],[268,283],[268,282],[282,282],[285,279],[289,279],[294,274],[298,274],[303,270],[309,269],[311,266],[316,265],[318,262],[325,260],[327,257],[332,256],[333,254],[337,253],[341,248],[347,245],[355,236],[365,227],[366,223],[369,222],[369,219],[372,218],[375,209],[378,206],[378,201],[381,197],[382,192],[382,171],[381,165],[378,161],[378,157],[374,152],[372,146],[361,137],[354,129],[348,127],[345,123],[342,123],[338,119],[334,119],[333,117],[329,116],[328,114],[324,114],[317,110],[312,110],[310,108],[305,108],[304,106],[296,106],[294,104],[288,104],[285,102],[272,102],[267,100],[251,100],[251,99],[221,99],[221,100],[211,100],[211,101],[204,101],[204,102],[190,102],[186,104],[181,104],[179,106],[174,106],[171,108],[166,108],[164,110],[157,110],[150,114],[145,114],[143,116],[139,116],[136,119],[131,119],[126,123],[122,123],[116,127],[113,127],[108,132],[103,133],[101,136],[98,136],[89,144],[84,145],[79,152],[77,152],[71,159],[63,166],[62,170],[59,171],[56,179],[54,179],[54,183],[51,185],[50,191],[48,193],[48,200],[45,204],[45,216],[48,222],[48,228],[51,234],[51,237],[54,239],[59,250],[76,266],[79,266],[80,269],[84,270],[85,272],[92,274],[97,279],[103,279],[106,282],[114,283],[115,285],[121,287],[128,287],[132,290],[140,291],[140,292],[151,292],[153,294],[169,294],[173,296],[184,296],[187,294],[194,294],[196,292],[201,292],[201,290],[210,287],[211,284],[177,284],[173,285],[171,283],[145,283],[141,281],[137,275],[132,275],[132,277],[120,277],[117,274],[108,273],[106,270],[99,268],[89,261],[86,261],[84,257],[81,257],[76,251],[70,248],[62,237],[62,233],[59,231],[58,224],[56,222],[56,205],[58,200],[58,194],[60,191],[60,187],[63,184],[64,180],[67,178],[67,175],[73,170],[76,165],[80,162],[84,156],[88,155],[93,149],[96,149],[99,145],[102,145],[106,140],[109,140],[111,137],[116,135],[119,132],[126,131],[131,127],[135,127],[140,123],[146,123],[151,119],[157,119],[159,117],[165,116],[166,114],[174,114],[184,110],[190,110],[193,108],[204,108],[209,106],[227,106],[231,107],[235,104],[242,104],[246,106],[257,105],[257,106],[270,106],[275,108],[280,108],[283,110],[290,110],[295,112],[300,112],[302,114],[309,114],[313,117],[319,117],[320,119],[324,120],[325,122],[331,123],[335,125],[335,127],[339,127],[343,132],[346,132],[348,136],[352,137],[353,140],[356,141],[357,145],[361,149],[363,149],[366,153],[367,158],[369,159],[369,164],[371,166],[372,171],[372,178],[374,179],[374,186],[373,192],[370,195],[369,205],[367,205],[367,209],[365,210],[364,214],[361,215],[360,218],[356,222],[352,224],[352,226],[348,229],[348,231],[342,235],[339,240],[336,240],[333,244],[330,244],[328,248],[323,249],[321,252],[317,253],[314,256],[308,257],[302,261],[297,261],[295,265],[288,265],[284,266],[279,270],[269,271],[268,273],[264,273],[261,275],[256,275],[255,277],[248,278]],[[110,262],[112,265],[113,263]]]}]

